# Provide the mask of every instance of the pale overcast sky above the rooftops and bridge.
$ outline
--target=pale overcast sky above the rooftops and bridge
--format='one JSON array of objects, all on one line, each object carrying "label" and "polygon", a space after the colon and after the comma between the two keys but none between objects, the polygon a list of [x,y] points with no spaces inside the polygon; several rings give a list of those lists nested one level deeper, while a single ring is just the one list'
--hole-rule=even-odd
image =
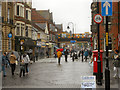
[{"label": "pale overcast sky above the rooftops and bridge", "polygon": [[[69,22],[74,23],[76,33],[90,32],[92,0],[32,0],[33,8],[53,12],[56,24],[63,24],[67,30]],[[72,29],[72,24],[70,28]]]}]

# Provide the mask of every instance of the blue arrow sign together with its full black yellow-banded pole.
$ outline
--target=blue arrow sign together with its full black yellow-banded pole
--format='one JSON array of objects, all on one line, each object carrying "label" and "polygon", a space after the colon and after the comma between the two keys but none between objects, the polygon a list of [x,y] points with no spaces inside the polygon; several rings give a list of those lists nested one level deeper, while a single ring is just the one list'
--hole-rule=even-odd
[{"label": "blue arrow sign together with its full black yellow-banded pole", "polygon": [[112,16],[112,0],[102,0],[102,16],[106,16],[106,67],[105,67],[105,90],[110,90],[110,70],[108,60],[108,16]]}]

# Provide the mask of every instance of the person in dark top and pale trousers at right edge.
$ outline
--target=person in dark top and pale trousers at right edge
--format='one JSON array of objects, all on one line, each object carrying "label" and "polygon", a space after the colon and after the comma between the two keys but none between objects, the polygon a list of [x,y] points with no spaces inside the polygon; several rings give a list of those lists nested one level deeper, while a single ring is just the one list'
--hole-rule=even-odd
[{"label": "person in dark top and pale trousers at right edge", "polygon": [[115,50],[115,60],[114,60],[114,76],[120,78],[120,53],[118,50]]}]

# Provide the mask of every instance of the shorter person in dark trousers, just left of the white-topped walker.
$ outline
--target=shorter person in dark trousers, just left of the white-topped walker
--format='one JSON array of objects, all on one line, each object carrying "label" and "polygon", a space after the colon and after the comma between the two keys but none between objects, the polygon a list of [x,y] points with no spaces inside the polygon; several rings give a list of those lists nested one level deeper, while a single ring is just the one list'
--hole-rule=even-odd
[{"label": "shorter person in dark trousers, just left of the white-topped walker", "polygon": [[26,55],[23,54],[21,60],[20,60],[20,77],[25,76],[25,59],[26,59]]}]

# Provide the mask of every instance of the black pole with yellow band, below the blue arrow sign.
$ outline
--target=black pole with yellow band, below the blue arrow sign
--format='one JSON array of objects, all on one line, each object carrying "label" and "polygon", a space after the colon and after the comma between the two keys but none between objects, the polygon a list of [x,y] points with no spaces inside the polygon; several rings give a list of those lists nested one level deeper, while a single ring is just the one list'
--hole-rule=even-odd
[{"label": "black pole with yellow band, below the blue arrow sign", "polygon": [[106,16],[106,68],[105,68],[105,90],[110,90],[110,70],[108,61],[108,16]]}]

